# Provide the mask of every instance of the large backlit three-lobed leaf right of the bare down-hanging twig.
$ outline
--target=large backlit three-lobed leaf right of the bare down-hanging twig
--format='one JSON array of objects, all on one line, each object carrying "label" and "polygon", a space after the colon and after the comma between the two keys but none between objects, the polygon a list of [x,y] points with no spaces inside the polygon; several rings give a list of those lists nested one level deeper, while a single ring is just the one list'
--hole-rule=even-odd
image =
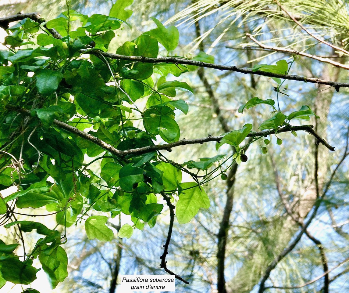
[{"label": "large backlit three-lobed leaf right of the bare down-hanging twig", "polygon": [[[199,212],[200,208],[209,208],[210,200],[202,186],[195,182],[180,183],[182,192],[176,205],[178,223],[185,224]],[[187,189],[188,188],[188,189]]]}]

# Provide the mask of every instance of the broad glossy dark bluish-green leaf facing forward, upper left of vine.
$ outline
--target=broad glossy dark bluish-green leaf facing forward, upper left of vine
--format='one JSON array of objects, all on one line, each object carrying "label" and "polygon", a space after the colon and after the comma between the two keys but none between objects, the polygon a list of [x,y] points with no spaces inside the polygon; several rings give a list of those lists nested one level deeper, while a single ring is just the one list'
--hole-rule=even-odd
[{"label": "broad glossy dark bluish-green leaf facing forward, upper left of vine", "polygon": [[63,78],[63,74],[59,71],[50,69],[42,69],[36,74],[36,87],[40,94],[49,96],[57,91],[58,85]]}]

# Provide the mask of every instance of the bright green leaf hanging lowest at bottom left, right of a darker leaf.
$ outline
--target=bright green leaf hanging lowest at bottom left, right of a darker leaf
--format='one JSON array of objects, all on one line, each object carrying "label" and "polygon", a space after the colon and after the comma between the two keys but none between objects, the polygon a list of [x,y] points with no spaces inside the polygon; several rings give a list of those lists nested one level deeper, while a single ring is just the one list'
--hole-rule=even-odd
[{"label": "bright green leaf hanging lowest at bottom left, right of a darker leaf", "polygon": [[39,260],[49,278],[52,289],[68,277],[68,257],[61,246],[57,246],[55,249],[50,249],[50,246],[48,246],[39,254]]}]

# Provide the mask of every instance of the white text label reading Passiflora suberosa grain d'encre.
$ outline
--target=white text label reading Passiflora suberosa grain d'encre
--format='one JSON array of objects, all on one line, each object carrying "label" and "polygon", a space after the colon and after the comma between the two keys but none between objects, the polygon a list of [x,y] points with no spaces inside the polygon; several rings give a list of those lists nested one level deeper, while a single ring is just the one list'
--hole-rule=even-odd
[{"label": "white text label reading Passiflora suberosa grain d'encre", "polygon": [[174,292],[171,275],[120,275],[119,292]]}]

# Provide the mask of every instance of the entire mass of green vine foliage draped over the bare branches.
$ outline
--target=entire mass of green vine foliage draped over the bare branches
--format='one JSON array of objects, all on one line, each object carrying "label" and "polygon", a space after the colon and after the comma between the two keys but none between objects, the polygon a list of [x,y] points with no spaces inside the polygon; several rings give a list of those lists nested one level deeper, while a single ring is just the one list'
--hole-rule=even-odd
[{"label": "entire mass of green vine foliage draped over the bare branches", "polygon": [[[153,146],[159,137],[166,143],[177,142],[180,129],[175,110],[186,114],[188,105],[173,98],[176,90],[193,92],[187,83],[166,78],[195,70],[195,66],[106,59],[99,53],[108,50],[116,36],[114,30],[128,25],[132,11],[125,9],[127,3],[117,1],[109,15],[87,16],[68,10],[47,22],[26,18],[7,30],[8,50],[0,51],[0,190],[17,186],[18,191],[0,197],[0,214],[5,221],[15,219],[6,228],[17,229],[21,235],[36,230],[44,238],[25,253],[23,261],[13,253],[17,244],[0,242],[0,287],[6,281],[30,284],[35,280],[38,269],[32,266],[33,258],[38,258],[52,287],[57,286],[67,276],[67,255],[61,246],[67,241],[65,228],[82,220],[89,239],[111,241],[114,232],[103,213],[112,218],[131,215],[134,225],[124,224],[118,234],[129,238],[146,223],[154,227],[163,210],[159,198],[178,199],[179,223],[189,222],[200,208],[210,205],[202,184],[222,164],[207,170],[225,155],[180,165],[156,151],[117,157],[96,143],[103,141],[125,151]],[[177,28],[165,28],[153,20],[157,28],[125,42],[116,53],[157,57],[159,44],[162,50],[174,50],[179,40]],[[51,29],[61,37],[52,36]],[[213,57],[203,52],[193,59],[213,63]],[[259,70],[279,70],[273,66]],[[144,110],[135,103],[139,99],[146,101]],[[274,105],[273,100],[253,98],[240,111],[260,103]],[[25,109],[28,115],[16,109]],[[291,119],[314,114],[307,106],[288,116],[276,112],[259,129],[277,129]],[[133,121],[139,120],[142,125],[135,127]],[[57,121],[95,140],[60,128]],[[226,134],[217,149],[230,144],[236,149],[233,159],[244,161],[239,145],[251,130],[252,125],[246,124]],[[98,172],[84,162],[86,155],[95,158],[91,163],[99,164]],[[206,172],[201,181],[187,170],[192,168]],[[182,171],[191,174],[193,182],[182,182]],[[34,221],[17,221],[15,207],[45,207],[55,213],[57,225],[49,229]]]}]

